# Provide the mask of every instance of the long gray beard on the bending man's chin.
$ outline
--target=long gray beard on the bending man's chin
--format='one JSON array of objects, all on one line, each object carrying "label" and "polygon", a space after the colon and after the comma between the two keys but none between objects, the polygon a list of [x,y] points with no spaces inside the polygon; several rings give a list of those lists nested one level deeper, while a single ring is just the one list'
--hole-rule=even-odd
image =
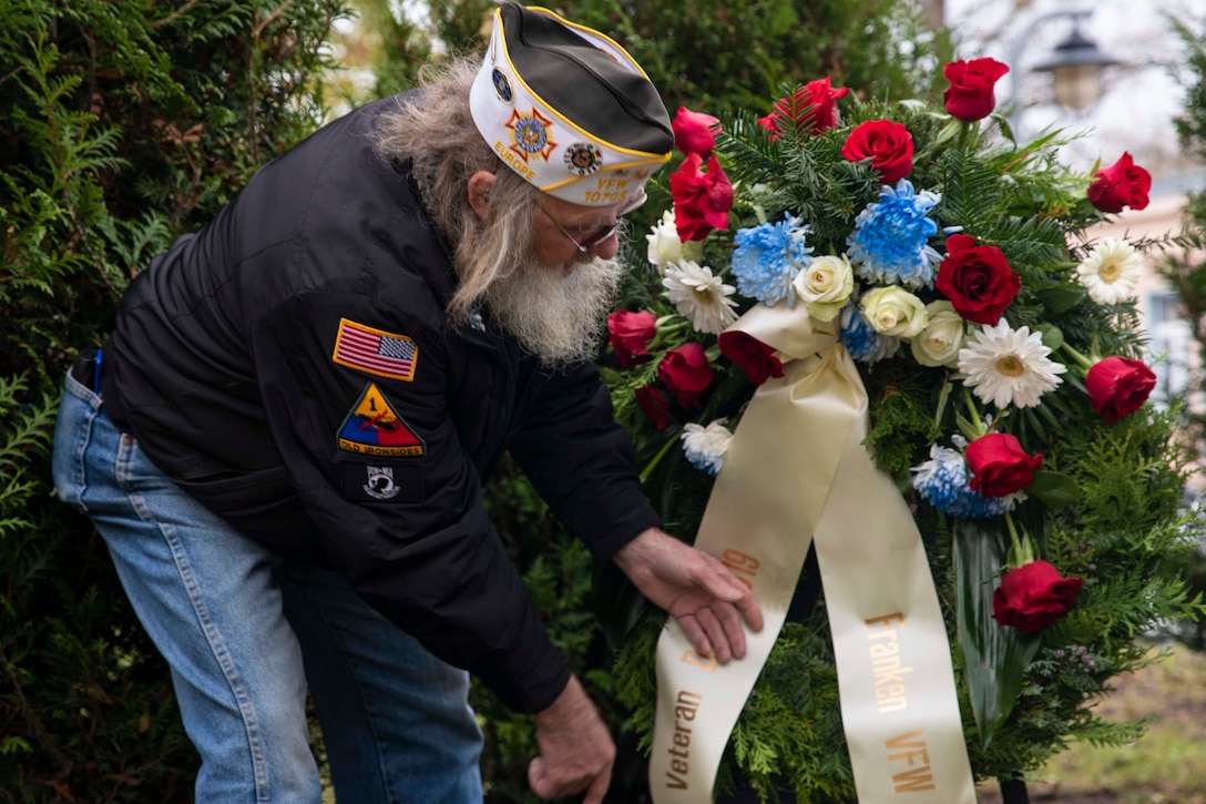
[{"label": "long gray beard on the bending man's chin", "polygon": [[562,266],[528,262],[485,293],[486,308],[525,350],[552,368],[595,356],[607,314],[624,275],[616,260],[573,260]]}]

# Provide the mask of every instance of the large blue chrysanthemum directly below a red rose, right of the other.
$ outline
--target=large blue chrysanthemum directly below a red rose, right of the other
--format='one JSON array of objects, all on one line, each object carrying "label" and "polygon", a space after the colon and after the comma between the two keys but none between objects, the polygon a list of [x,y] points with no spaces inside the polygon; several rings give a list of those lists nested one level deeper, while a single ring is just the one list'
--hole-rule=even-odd
[{"label": "large blue chrysanthemum directly below a red rose, right of the other", "polygon": [[883,187],[879,202],[859,212],[847,238],[847,255],[857,264],[859,276],[876,285],[933,287],[942,255],[927,243],[938,225],[926,214],[941,198],[929,190],[914,193],[908,179],[895,188]]}]

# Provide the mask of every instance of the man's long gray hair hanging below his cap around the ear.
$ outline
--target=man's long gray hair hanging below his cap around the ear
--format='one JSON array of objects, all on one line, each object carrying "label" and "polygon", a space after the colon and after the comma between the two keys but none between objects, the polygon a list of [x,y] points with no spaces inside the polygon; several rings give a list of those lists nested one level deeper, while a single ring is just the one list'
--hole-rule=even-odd
[{"label": "man's long gray hair hanging below his cap around the ear", "polygon": [[[459,284],[449,302],[456,325],[469,321],[487,289],[515,269],[515,255],[532,251],[532,215],[539,191],[508,168],[478,132],[469,88],[480,64],[452,59],[420,74],[421,99],[382,116],[375,146],[386,158],[410,159],[435,223],[453,246]],[[488,214],[469,204],[469,177],[493,173]]]}]

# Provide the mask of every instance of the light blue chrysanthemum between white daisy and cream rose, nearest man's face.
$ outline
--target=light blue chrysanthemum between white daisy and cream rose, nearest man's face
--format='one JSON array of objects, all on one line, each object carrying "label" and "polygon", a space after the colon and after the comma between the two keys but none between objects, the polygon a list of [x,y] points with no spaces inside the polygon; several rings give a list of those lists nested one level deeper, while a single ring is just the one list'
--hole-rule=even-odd
[{"label": "light blue chrysanthemum between white daisy and cream rose, nearest man's face", "polygon": [[772,305],[788,299],[796,304],[792,280],[813,261],[813,247],[804,243],[808,226],[791,212],[778,223],[762,223],[751,229],[737,229],[733,241],[732,269],[737,290]]}]

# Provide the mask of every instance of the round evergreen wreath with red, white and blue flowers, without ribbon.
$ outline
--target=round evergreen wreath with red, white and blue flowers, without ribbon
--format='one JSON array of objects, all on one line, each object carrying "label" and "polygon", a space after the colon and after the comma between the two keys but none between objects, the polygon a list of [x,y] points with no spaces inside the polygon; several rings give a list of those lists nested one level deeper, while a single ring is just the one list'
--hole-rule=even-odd
[{"label": "round evergreen wreath with red, white and blue flowers, without ribbon", "polygon": [[[1147,403],[1157,378],[1134,301],[1141,252],[1159,244],[1089,231],[1143,209],[1151,176],[1128,153],[1070,170],[1059,132],[1015,141],[994,113],[1007,71],[946,65],[942,111],[861,101],[829,78],[763,117],[679,109],[673,205],[630,255],[602,361],[650,497],[690,536],[745,404],[783,373],[774,349],[731,325],[804,305],[836,327],[871,400],[866,447],[925,540],[973,773],[1002,781],[1071,739],[1137,738],[1090,706],[1152,660],[1136,635],[1198,608],[1170,569],[1193,549],[1187,468],[1175,412]],[[718,793],[854,797],[808,576]],[[619,694],[649,747],[662,617],[634,622]]]}]

